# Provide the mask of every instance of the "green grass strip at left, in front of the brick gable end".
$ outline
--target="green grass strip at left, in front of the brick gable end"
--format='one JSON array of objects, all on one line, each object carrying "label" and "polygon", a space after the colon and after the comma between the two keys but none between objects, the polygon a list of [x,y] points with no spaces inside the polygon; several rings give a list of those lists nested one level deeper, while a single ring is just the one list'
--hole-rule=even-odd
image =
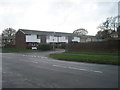
[{"label": "green grass strip at left, in front of the brick gable end", "polygon": [[31,49],[17,49],[17,48],[3,48],[0,50],[2,53],[9,53],[9,52],[37,52],[38,50],[31,50]]}]

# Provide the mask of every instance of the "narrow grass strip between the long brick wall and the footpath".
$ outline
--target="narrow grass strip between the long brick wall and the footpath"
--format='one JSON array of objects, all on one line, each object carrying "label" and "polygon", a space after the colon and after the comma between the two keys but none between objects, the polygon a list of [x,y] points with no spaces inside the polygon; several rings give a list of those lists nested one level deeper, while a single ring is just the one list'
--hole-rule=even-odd
[{"label": "narrow grass strip between the long brick wall and the footpath", "polygon": [[120,55],[120,52],[102,52],[102,51],[66,51],[64,53],[72,53],[72,54],[88,54],[88,55],[113,55],[117,56]]}]

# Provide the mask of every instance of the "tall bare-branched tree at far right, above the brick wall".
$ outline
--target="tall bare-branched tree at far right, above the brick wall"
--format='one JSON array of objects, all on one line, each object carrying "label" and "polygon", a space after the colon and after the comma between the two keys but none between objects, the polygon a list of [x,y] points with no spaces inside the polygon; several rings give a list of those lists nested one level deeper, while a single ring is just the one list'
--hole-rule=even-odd
[{"label": "tall bare-branched tree at far right, above the brick wall", "polygon": [[105,22],[101,23],[97,27],[99,31],[97,32],[96,37],[99,39],[111,38],[111,34],[117,31],[119,24],[118,18],[119,16],[109,17]]}]

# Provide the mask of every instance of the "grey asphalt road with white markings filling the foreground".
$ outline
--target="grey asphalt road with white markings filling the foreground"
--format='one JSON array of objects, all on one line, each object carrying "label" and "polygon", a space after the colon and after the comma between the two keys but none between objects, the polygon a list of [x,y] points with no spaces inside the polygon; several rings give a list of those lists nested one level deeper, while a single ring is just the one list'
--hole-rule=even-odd
[{"label": "grey asphalt road with white markings filling the foreground", "polygon": [[60,61],[47,57],[49,53],[3,53],[2,87],[118,87],[118,66]]}]

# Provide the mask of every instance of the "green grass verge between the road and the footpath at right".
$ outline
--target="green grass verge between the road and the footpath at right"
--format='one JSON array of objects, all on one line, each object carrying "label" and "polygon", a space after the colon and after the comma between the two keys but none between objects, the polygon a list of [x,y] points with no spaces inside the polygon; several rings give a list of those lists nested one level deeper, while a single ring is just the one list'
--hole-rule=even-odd
[{"label": "green grass verge between the road and the footpath at right", "polygon": [[86,55],[66,55],[64,53],[60,54],[50,54],[52,58],[59,60],[68,61],[78,61],[78,62],[90,62],[90,63],[101,63],[101,64],[118,64],[118,57],[108,57],[108,56],[86,56]]}]

